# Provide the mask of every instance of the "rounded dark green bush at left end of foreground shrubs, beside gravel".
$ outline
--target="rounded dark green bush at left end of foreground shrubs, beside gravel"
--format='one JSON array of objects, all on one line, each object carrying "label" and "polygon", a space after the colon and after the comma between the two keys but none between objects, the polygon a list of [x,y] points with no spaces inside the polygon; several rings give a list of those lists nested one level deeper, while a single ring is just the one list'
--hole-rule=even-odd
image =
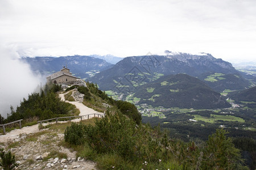
[{"label": "rounded dark green bush at left end of foreground shrubs, beside gravel", "polygon": [[65,142],[72,145],[82,145],[85,142],[84,125],[75,124],[72,122],[71,126],[68,126],[64,132]]}]

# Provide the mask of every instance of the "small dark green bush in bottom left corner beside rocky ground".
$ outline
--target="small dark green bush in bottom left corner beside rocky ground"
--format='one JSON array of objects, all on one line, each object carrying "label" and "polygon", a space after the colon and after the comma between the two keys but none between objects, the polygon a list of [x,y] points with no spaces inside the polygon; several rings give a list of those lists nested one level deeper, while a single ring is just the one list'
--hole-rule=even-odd
[{"label": "small dark green bush in bottom left corner beside rocky ground", "polygon": [[0,166],[3,167],[4,170],[7,169],[15,169],[18,164],[15,161],[15,155],[11,154],[11,152],[3,151],[3,148],[0,149]]}]

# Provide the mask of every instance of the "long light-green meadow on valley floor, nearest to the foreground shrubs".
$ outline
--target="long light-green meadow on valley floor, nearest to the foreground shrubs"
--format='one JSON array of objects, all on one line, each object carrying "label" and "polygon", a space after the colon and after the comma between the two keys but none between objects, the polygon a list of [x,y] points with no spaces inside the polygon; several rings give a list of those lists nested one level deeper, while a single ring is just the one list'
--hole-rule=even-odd
[{"label": "long light-green meadow on valley floor, nearest to the foreground shrubs", "polygon": [[213,124],[215,121],[222,120],[222,121],[238,121],[238,122],[245,122],[240,117],[236,116],[230,116],[230,115],[217,115],[217,114],[210,114],[210,117],[204,117],[200,116],[198,114],[194,115],[195,117],[193,118],[194,120],[197,121],[204,121]]}]

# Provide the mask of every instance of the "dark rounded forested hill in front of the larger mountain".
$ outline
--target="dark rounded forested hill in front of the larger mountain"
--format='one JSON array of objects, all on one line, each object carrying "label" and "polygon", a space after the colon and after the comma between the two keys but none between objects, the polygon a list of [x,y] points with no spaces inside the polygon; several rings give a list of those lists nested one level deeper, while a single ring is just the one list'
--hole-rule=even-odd
[{"label": "dark rounded forested hill in front of the larger mountain", "polygon": [[228,108],[231,105],[204,82],[186,74],[168,75],[139,86],[134,97],[138,105],[194,109]]}]

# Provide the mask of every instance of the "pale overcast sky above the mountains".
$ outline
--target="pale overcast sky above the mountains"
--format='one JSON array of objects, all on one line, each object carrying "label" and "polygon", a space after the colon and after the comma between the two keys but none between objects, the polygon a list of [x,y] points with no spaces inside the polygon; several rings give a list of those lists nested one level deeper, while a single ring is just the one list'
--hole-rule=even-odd
[{"label": "pale overcast sky above the mountains", "polygon": [[30,57],[170,50],[255,61],[256,1],[0,0],[0,41]]}]

